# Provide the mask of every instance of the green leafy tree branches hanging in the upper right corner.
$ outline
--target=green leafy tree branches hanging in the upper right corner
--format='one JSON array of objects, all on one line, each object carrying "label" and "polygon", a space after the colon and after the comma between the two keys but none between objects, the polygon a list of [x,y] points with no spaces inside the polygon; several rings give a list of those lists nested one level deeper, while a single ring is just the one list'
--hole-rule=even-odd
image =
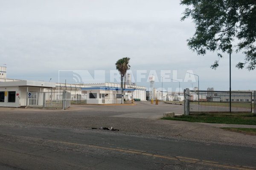
[{"label": "green leafy tree branches hanging in the upper right corner", "polygon": [[[237,68],[247,65],[248,70],[255,69],[256,0],[180,0],[180,4],[187,6],[181,20],[190,17],[195,23],[195,34],[187,40],[192,51],[205,55],[207,51],[229,53],[236,48],[245,54],[245,62],[239,62]],[[219,52],[217,55],[222,58]],[[211,68],[217,67],[216,60]]]}]

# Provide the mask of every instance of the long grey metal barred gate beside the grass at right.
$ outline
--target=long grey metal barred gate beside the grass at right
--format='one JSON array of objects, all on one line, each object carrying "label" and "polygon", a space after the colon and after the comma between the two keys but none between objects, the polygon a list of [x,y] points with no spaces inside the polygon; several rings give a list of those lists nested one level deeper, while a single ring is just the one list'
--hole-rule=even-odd
[{"label": "long grey metal barred gate beside the grass at right", "polygon": [[[184,94],[185,94],[185,91],[184,91]],[[187,98],[186,102],[189,102],[189,113],[229,113],[230,112],[230,92],[229,91],[190,91],[189,99]],[[255,93],[249,92],[249,91],[248,92],[232,91],[231,92],[231,112],[232,113],[255,112]]]}]

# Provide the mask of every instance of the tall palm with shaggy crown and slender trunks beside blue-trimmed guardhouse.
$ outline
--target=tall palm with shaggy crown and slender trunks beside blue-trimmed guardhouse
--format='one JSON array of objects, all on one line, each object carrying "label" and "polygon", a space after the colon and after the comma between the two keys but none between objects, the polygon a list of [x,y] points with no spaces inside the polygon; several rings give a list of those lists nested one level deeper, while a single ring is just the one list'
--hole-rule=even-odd
[{"label": "tall palm with shaggy crown and slender trunks beside blue-trimmed guardhouse", "polygon": [[123,88],[124,88],[123,82],[124,82],[125,74],[126,74],[127,70],[129,70],[131,67],[129,65],[129,60],[130,60],[129,57],[123,57],[122,59],[119,59],[116,62],[116,69],[119,71],[119,73],[121,75],[121,94],[123,94]]}]

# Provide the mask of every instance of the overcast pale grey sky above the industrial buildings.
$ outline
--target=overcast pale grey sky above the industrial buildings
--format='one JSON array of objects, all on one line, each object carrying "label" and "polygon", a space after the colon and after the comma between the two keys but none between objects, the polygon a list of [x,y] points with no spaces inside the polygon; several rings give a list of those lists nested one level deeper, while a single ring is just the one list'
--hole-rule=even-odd
[{"label": "overcast pale grey sky above the industrial buildings", "polygon": [[[228,54],[215,71],[217,54],[188,49],[195,30],[191,20],[180,21],[184,8],[179,0],[0,0],[0,65],[6,63],[7,78],[58,82],[59,70],[105,70],[108,82],[115,62],[130,57],[133,74],[177,70],[184,79],[192,70],[201,90],[229,90]],[[232,88],[256,89],[255,71],[235,68],[243,59],[232,55]],[[197,86],[181,87],[191,83]],[[149,87],[146,79],[137,84]]]}]

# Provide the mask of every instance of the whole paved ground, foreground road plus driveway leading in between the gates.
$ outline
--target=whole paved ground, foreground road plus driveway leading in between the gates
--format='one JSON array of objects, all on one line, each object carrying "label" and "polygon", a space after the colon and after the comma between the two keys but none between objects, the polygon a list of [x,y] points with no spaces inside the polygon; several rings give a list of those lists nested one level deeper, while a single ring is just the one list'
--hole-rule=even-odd
[{"label": "whole paved ground, foreground road plus driveway leading in between the gates", "polygon": [[0,108],[0,170],[256,169],[256,136],[157,119],[168,111],[183,106]]}]

